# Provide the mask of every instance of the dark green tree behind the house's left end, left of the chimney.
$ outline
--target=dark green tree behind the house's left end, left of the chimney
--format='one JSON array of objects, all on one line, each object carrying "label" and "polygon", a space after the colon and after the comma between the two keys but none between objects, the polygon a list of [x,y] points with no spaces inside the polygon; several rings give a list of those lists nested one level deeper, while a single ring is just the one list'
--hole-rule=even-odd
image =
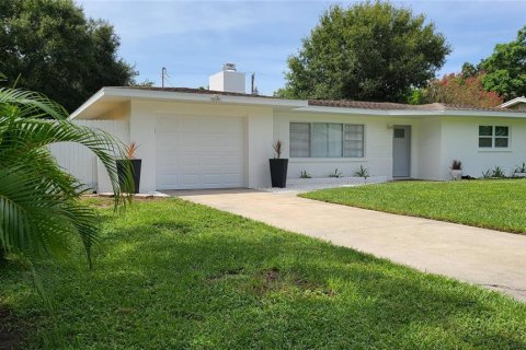
[{"label": "dark green tree behind the house's left end, left of the chimney", "polygon": [[134,83],[113,26],[72,0],[0,1],[0,71],[72,112],[104,85]]}]

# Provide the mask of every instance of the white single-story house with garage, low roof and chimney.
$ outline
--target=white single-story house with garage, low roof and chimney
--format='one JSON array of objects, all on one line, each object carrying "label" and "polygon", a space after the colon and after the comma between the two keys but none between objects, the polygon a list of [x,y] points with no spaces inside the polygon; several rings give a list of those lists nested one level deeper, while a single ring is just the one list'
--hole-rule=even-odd
[{"label": "white single-story house with garage, low roof and chimney", "polygon": [[[110,120],[110,132],[139,144],[141,192],[268,187],[277,140],[288,178],[302,171],[327,177],[335,168],[353,176],[363,165],[388,179],[446,180],[453,160],[473,177],[526,162],[524,108],[284,100],[247,94],[244,81],[230,67],[210,77],[210,90],[103,88],[71,118]],[[93,187],[110,190],[94,166]]]}]

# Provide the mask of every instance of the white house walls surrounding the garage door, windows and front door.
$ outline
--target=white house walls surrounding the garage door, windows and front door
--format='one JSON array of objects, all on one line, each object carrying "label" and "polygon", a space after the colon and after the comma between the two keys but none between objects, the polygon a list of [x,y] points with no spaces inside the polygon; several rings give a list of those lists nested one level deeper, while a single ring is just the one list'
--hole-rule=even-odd
[{"label": "white house walls surrounding the garage door, windows and front door", "polygon": [[[289,158],[290,122],[342,122],[364,125],[365,156],[361,159],[289,159],[288,178],[298,178],[301,171],[313,177],[327,177],[335,168],[352,176],[363,165],[371,176],[392,178],[392,127],[411,126],[411,177],[449,179],[454,159],[464,163],[464,174],[480,177],[495,165],[507,172],[526,162],[526,124],[514,118],[411,116],[386,117],[344,115],[338,113],[286,112],[271,106],[231,105],[226,103],[181,103],[133,100],[107,119],[126,124],[123,130],[107,130],[125,143],[136,141],[140,147],[137,158],[142,160],[140,191],[157,190],[158,116],[232,116],[245,118],[245,185],[251,188],[270,186],[268,159],[272,144],[282,140],[284,158]],[[508,126],[510,149],[480,150],[480,125]],[[98,166],[99,191],[111,190],[105,171]]]}]

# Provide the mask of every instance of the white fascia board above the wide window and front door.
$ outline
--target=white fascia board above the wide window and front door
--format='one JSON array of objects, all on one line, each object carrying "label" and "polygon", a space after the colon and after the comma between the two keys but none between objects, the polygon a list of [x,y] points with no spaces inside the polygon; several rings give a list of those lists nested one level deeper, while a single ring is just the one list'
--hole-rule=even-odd
[{"label": "white fascia board above the wide window and front door", "polygon": [[508,117],[508,118],[526,118],[526,113],[512,112],[488,112],[488,110],[418,110],[418,109],[367,109],[367,108],[344,108],[344,107],[325,107],[325,106],[308,106],[295,108],[296,112],[307,113],[333,113],[347,115],[370,115],[385,117],[425,117],[425,116],[464,116],[464,117]]}]

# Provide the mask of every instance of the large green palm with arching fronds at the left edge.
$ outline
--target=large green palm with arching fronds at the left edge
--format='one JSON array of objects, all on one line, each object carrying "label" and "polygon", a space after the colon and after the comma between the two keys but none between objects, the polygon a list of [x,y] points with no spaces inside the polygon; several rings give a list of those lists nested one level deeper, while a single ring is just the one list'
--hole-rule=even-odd
[{"label": "large green palm with arching fronds at the left edge", "polygon": [[0,89],[0,252],[31,266],[66,257],[70,237],[77,235],[91,267],[99,237],[96,212],[79,200],[84,186],[58,166],[49,144],[78,142],[89,148],[110,175],[115,208],[126,201],[115,164],[123,145],[67,117],[61,106],[38,93]]}]

